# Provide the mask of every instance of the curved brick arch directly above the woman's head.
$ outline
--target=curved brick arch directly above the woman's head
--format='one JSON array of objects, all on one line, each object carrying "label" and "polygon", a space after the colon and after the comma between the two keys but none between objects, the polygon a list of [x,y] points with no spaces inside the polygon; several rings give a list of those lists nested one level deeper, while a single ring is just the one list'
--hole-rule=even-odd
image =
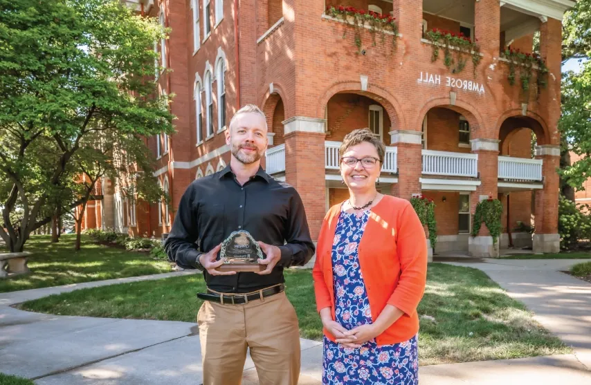
[{"label": "curved brick arch directly above the woman's head", "polygon": [[367,91],[362,91],[361,82],[338,82],[327,88],[324,94],[318,100],[318,109],[316,110],[316,118],[323,119],[325,117],[327,103],[337,93],[356,93],[370,97],[376,102],[379,102],[388,113],[391,122],[391,129],[402,130],[406,127],[402,107],[394,95],[385,89],[374,84],[367,84]]}]

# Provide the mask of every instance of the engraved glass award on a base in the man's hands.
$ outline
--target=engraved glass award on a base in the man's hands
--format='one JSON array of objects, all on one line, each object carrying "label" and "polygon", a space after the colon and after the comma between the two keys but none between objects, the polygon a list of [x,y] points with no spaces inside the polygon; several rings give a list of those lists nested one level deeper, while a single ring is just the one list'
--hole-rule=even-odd
[{"label": "engraved glass award on a base in the man's hands", "polygon": [[266,268],[258,263],[258,259],[265,258],[261,247],[246,230],[233,232],[221,243],[219,258],[226,260],[216,269],[221,272],[256,272]]}]

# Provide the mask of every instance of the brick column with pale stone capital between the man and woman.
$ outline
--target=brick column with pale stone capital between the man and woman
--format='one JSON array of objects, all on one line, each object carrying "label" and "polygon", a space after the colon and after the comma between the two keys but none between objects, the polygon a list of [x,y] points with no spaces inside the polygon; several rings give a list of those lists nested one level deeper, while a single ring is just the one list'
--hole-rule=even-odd
[{"label": "brick column with pale stone capital between the man and woman", "polygon": [[326,214],[325,120],[296,116],[284,120],[285,180],[302,197],[312,240]]}]

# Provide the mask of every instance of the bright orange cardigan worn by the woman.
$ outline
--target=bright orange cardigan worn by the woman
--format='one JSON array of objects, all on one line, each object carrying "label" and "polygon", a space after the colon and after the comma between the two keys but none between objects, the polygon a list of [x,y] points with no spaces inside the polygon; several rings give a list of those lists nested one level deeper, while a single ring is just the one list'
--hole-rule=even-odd
[{"label": "bright orange cardigan worn by the woman", "polygon": [[[316,308],[330,307],[334,316],[332,244],[343,203],[334,205],[322,221],[313,268]],[[381,335],[378,345],[398,344],[419,331],[417,306],[423,297],[427,276],[427,244],[423,225],[410,202],[383,196],[367,221],[358,245],[359,268],[375,322],[387,304],[404,314]],[[334,341],[326,328],[325,336]]]}]

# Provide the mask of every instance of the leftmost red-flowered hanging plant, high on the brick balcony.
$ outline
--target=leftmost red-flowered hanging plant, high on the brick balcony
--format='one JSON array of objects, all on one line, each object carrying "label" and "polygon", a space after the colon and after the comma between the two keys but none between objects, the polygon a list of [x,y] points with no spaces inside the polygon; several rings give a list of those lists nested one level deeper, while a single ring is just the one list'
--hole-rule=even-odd
[{"label": "leftmost red-flowered hanging plant, high on the brick balcony", "polygon": [[[381,33],[382,44],[385,41],[385,31],[392,32],[392,53],[396,49],[398,39],[398,25],[396,24],[396,18],[391,15],[382,15],[381,13],[373,11],[358,10],[354,7],[345,6],[327,6],[325,15],[334,17],[345,21],[350,26],[354,26],[354,42],[357,47],[357,53],[361,53],[361,47],[363,41],[361,41],[361,28],[364,28],[365,24],[370,26],[370,32],[372,32],[372,45],[376,46],[376,33]],[[343,32],[343,39],[347,37],[347,30]]]}]

